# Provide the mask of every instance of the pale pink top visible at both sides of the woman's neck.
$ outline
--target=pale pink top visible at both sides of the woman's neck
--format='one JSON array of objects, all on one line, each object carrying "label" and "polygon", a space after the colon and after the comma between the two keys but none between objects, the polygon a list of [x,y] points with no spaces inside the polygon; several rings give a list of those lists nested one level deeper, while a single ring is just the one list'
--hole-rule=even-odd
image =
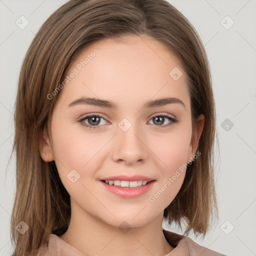
[{"label": "pale pink top visible at both sides of the woman's neck", "polygon": [[[210,250],[194,242],[188,236],[180,235],[162,229],[167,242],[175,247],[171,252],[163,256],[225,256],[224,254]],[[55,234],[50,234],[48,246],[40,247],[36,256],[86,256],[83,252],[71,246]]]}]

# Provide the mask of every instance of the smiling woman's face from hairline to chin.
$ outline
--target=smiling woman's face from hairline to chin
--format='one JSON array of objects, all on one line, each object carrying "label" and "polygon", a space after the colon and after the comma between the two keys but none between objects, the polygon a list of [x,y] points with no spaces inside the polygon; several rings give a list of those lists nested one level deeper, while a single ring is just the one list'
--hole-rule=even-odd
[{"label": "smiling woman's face from hairline to chin", "polygon": [[[67,75],[51,118],[52,147],[44,137],[42,158],[55,161],[79,214],[113,226],[152,221],[179,191],[181,166],[198,143],[192,143],[190,98],[178,59],[151,37],[125,36],[86,47]],[[155,101],[162,98],[176,101]],[[111,179],[124,186],[148,183],[103,181]]]}]

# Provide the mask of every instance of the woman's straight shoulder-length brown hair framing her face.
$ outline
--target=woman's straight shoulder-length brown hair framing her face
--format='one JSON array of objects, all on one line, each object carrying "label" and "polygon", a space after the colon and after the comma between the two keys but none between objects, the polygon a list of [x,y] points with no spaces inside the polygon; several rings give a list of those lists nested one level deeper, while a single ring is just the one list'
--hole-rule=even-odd
[{"label": "woman's straight shoulder-length brown hair framing her face", "polygon": [[[36,253],[50,233],[65,232],[70,221],[70,198],[55,162],[39,152],[39,131],[50,136],[50,118],[57,95],[51,93],[84,47],[103,38],[149,35],[180,58],[187,74],[192,130],[205,116],[198,159],[187,166],[183,184],[164,209],[169,223],[187,222],[185,234],[207,232],[217,203],[213,176],[215,106],[208,60],[190,22],[165,0],[70,0],[53,12],[33,38],[20,70],[15,102],[16,191],[11,215],[13,256]],[[21,234],[16,225],[29,229]]]}]

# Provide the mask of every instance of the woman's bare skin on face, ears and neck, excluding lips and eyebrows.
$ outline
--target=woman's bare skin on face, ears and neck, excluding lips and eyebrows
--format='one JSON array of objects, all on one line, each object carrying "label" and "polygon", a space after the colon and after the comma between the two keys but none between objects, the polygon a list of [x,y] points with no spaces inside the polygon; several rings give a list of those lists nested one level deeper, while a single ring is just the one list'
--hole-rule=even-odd
[{"label": "woman's bare skin on face, ears and neck, excluding lips and eyebrows", "polygon": [[[165,255],[173,250],[162,233],[163,210],[178,193],[185,171],[154,202],[149,201],[175,171],[196,153],[204,116],[192,133],[186,74],[178,58],[152,37],[135,35],[100,40],[87,46],[67,74],[97,48],[99,52],[59,92],[51,118],[52,144],[41,133],[41,157],[54,160],[60,179],[70,194],[71,220],[60,238],[86,255]],[[178,67],[183,75],[174,80],[169,72]],[[68,104],[81,97],[97,97],[118,104],[118,109]],[[142,108],[147,100],[177,97],[183,101]],[[101,114],[98,127],[89,129],[77,120]],[[167,114],[178,120],[153,122]],[[127,131],[118,123],[126,118]],[[88,125],[89,119],[84,120]],[[165,127],[164,127],[165,125]],[[66,175],[75,169],[80,178],[72,183]],[[154,178],[152,188],[135,198],[108,192],[100,178],[141,174]],[[131,227],[122,232],[126,221]],[[97,253],[97,254],[95,254]]]}]

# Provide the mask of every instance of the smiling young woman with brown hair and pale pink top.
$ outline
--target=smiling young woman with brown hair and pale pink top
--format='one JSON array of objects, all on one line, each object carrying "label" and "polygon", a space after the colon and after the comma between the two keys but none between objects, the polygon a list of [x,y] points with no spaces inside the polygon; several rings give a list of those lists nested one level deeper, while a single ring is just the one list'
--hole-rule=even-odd
[{"label": "smiling young woman with brown hair and pale pink top", "polygon": [[66,2],[15,107],[13,256],[222,255],[187,236],[217,214],[215,107],[202,42],[167,1]]}]

